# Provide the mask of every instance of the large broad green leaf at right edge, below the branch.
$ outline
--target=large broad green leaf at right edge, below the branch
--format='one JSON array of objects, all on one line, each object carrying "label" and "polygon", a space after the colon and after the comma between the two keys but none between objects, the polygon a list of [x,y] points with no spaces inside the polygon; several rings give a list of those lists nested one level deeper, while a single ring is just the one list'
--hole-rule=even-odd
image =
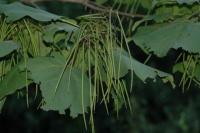
[{"label": "large broad green leaf at right edge, below the branch", "polygon": [[200,53],[200,23],[189,21],[138,28],[133,39],[144,51],[166,56],[171,48]]}]

